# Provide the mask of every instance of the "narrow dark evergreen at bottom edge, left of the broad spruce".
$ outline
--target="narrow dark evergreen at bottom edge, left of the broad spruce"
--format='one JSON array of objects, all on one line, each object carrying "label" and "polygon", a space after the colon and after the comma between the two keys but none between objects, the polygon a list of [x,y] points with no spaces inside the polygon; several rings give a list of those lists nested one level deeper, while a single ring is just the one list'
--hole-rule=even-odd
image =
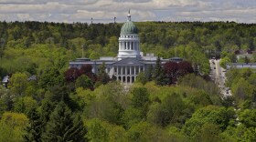
[{"label": "narrow dark evergreen at bottom edge, left of the broad spruce", "polygon": [[37,114],[35,107],[31,108],[28,112],[27,117],[29,118],[29,124],[25,128],[26,134],[23,136],[24,141],[31,142],[40,142],[42,134],[42,122],[40,117]]}]

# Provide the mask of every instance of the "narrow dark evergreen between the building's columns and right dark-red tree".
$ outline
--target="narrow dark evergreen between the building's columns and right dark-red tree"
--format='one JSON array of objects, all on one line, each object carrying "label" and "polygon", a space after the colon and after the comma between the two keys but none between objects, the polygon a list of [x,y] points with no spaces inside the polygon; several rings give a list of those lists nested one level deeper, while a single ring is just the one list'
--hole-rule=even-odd
[{"label": "narrow dark evergreen between the building's columns and right dark-red tree", "polygon": [[158,56],[155,64],[155,72],[154,72],[155,84],[157,86],[165,85],[165,74],[163,67],[161,65],[161,59]]}]

